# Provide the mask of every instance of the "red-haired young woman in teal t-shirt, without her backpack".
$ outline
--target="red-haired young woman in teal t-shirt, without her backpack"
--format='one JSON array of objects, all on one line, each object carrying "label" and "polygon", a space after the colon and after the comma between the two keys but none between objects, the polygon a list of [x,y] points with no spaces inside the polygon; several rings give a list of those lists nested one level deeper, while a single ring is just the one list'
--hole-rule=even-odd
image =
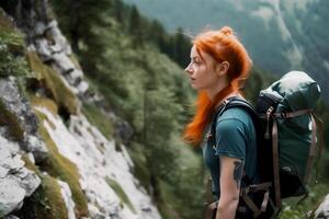
[{"label": "red-haired young woman in teal t-shirt, without her backpack", "polygon": [[[184,139],[203,148],[203,158],[218,200],[216,219],[249,218],[238,211],[242,175],[257,178],[257,143],[252,118],[242,108],[229,108],[217,118],[216,147],[207,141],[212,115],[224,100],[240,96],[251,59],[232,30],[207,31],[197,35],[185,71],[198,92],[196,113]],[[243,183],[242,183],[243,184]]]}]

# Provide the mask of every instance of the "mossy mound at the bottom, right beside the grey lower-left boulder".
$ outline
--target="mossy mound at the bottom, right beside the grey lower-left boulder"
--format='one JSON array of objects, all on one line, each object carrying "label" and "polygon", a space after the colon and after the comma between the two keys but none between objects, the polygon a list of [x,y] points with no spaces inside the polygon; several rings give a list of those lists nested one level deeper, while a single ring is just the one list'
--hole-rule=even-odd
[{"label": "mossy mound at the bottom, right beside the grey lower-left boulder", "polygon": [[20,218],[67,219],[68,211],[57,180],[49,175],[42,175],[39,171],[37,175],[42,184],[31,197],[24,200],[23,207],[14,215]]}]

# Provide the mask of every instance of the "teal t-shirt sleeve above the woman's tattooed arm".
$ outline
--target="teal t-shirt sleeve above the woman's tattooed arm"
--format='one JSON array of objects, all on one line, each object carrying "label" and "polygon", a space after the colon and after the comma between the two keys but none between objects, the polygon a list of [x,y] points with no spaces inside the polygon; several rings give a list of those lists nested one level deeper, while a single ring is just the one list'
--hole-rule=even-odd
[{"label": "teal t-shirt sleeve above the woman's tattooed arm", "polygon": [[216,155],[246,160],[246,127],[242,122],[229,118],[216,125]]}]

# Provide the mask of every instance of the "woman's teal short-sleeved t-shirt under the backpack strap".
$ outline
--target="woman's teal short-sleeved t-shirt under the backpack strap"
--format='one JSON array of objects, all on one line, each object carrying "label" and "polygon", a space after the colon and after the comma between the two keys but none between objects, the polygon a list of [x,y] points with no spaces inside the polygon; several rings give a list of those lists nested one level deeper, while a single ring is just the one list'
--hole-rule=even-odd
[{"label": "woman's teal short-sleeved t-shirt under the backpack strap", "polygon": [[[208,134],[211,127],[207,127]],[[216,147],[204,139],[203,158],[209,169],[213,180],[213,194],[216,199],[220,196],[219,191],[219,155],[243,160],[245,172],[252,183],[258,180],[257,172],[257,140],[252,118],[243,108],[234,107],[226,110],[217,118]],[[243,186],[243,182],[241,182]]]}]

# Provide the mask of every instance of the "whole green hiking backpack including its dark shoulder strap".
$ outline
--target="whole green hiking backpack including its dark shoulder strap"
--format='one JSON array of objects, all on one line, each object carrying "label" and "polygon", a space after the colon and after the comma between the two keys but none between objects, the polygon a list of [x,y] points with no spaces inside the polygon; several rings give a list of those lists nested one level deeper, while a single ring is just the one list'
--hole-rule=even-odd
[{"label": "whole green hiking backpack including its dark shoulder strap", "polygon": [[[305,185],[315,157],[324,148],[322,122],[314,113],[319,96],[316,81],[305,72],[291,71],[260,92],[256,108],[236,96],[225,100],[214,114],[212,145],[216,142],[217,117],[226,110],[245,108],[253,120],[261,182],[248,185],[248,176],[243,176],[248,186],[240,189],[239,205],[249,207],[254,218],[277,212],[281,198],[307,194]],[[258,200],[252,200],[250,194]]]}]

